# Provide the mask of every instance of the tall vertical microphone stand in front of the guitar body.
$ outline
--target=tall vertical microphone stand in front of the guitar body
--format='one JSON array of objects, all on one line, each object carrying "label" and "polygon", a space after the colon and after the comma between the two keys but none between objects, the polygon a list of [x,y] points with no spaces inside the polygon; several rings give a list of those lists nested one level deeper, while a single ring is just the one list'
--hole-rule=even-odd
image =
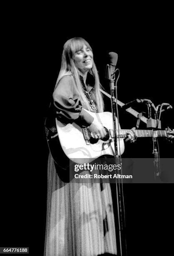
[{"label": "tall vertical microphone stand in front of the guitar body", "polygon": [[[113,73],[110,73],[109,65],[107,65],[107,68],[108,68],[107,79],[109,79],[110,90],[111,90],[111,109],[112,109],[112,118],[113,118],[114,147],[115,147],[114,158],[115,158],[116,164],[120,164],[121,174],[122,174],[122,159],[121,159],[121,156],[118,155],[118,145],[117,145],[117,138],[119,138],[119,118],[118,118],[118,108],[117,108],[117,80],[119,79],[119,75],[114,85],[115,72],[119,69],[116,69]],[[118,120],[117,123],[116,123],[116,111],[117,111],[117,120]],[[117,131],[118,131],[118,136],[117,136]],[[120,147],[119,147],[119,154],[120,154]],[[115,184],[116,184],[116,192],[117,192],[117,216],[115,218],[116,234],[117,234],[116,239],[119,238],[119,243],[117,242],[117,255],[127,256],[127,243],[126,243],[126,230],[125,230],[126,225],[125,225],[124,195],[123,195],[122,179],[119,178],[118,182],[116,181]],[[119,228],[119,231],[118,231],[118,228]]]}]

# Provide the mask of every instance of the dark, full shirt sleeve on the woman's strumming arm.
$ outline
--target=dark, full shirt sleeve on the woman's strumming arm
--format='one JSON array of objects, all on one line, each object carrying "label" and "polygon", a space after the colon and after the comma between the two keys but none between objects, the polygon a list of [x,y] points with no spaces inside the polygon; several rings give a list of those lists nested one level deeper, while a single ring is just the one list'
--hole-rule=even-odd
[{"label": "dark, full shirt sleeve on the woman's strumming arm", "polygon": [[74,78],[72,76],[62,77],[55,91],[53,92],[56,116],[60,120],[76,122],[89,126],[94,118],[87,113],[80,102]]}]

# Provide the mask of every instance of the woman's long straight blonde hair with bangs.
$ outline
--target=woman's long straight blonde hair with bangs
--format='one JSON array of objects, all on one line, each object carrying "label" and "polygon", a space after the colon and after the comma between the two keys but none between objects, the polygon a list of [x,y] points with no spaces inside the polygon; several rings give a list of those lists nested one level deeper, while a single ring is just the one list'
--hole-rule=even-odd
[{"label": "woman's long straight blonde hair with bangs", "polygon": [[[73,60],[75,53],[77,51],[80,51],[83,48],[84,44],[92,51],[92,48],[88,44],[88,42],[81,37],[71,38],[64,44],[61,68],[60,68],[60,72],[59,72],[59,76],[57,78],[55,88],[57,87],[57,85],[58,85],[60,79],[62,79],[62,77],[66,76],[66,75],[73,75],[75,78],[77,90],[79,91],[80,101],[82,103],[82,106],[83,106],[83,108],[90,111],[89,103],[87,101],[87,98],[85,97],[84,90],[83,90],[82,84],[80,82],[78,69],[75,66],[75,63]],[[89,72],[90,72],[90,74],[92,74],[94,76],[94,80],[95,80],[93,95],[94,95],[94,100],[97,105],[97,110],[98,110],[98,112],[103,112],[104,103],[103,103],[102,94],[99,90],[100,89],[99,75],[98,75],[97,68],[96,68],[94,62],[93,62],[93,67],[92,67],[92,69],[89,70]]]}]

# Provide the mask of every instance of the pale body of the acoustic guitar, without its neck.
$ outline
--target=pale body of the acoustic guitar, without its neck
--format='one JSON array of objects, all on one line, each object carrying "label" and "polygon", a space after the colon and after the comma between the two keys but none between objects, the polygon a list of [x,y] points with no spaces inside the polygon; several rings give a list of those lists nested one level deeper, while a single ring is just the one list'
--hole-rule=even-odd
[{"label": "pale body of the acoustic guitar, without its neck", "polygon": [[[87,111],[87,110],[85,110]],[[89,111],[87,111],[89,112]],[[113,130],[112,124],[112,113],[92,113],[89,112],[94,118],[97,118],[103,126],[109,130]],[[116,120],[117,121],[117,120]],[[117,123],[118,125],[118,123]],[[56,127],[60,145],[65,155],[77,164],[84,164],[93,161],[99,156],[111,155],[114,156],[114,138],[111,137],[110,133],[101,139],[93,139],[89,137],[89,131],[87,135],[87,128],[80,127],[76,123],[63,124],[56,119]],[[85,133],[86,132],[86,133]],[[120,142],[120,151],[119,151]],[[123,138],[117,140],[118,154],[124,152],[124,141]]]}]

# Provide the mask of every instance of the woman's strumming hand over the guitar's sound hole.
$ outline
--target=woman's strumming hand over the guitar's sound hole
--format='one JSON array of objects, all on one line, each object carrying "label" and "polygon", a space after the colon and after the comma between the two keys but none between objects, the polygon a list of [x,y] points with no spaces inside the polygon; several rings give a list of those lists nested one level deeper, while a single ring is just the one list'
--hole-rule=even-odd
[{"label": "woman's strumming hand over the guitar's sound hole", "polygon": [[92,124],[89,126],[89,130],[91,131],[92,138],[102,139],[107,135],[102,123],[99,123],[96,119],[94,119]]}]

